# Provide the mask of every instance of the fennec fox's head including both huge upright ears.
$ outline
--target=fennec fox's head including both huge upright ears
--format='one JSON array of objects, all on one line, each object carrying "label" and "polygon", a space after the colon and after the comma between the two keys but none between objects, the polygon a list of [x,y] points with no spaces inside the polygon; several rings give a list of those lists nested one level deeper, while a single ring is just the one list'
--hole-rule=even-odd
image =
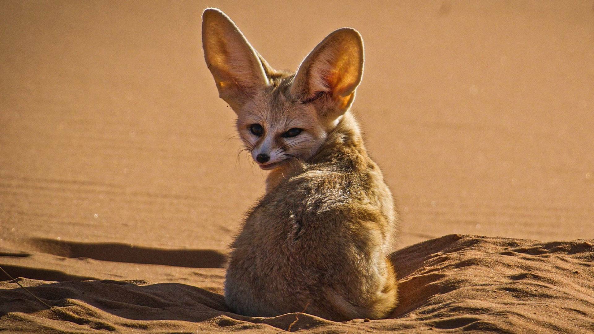
[{"label": "fennec fox's head including both huge upright ears", "polygon": [[295,74],[271,68],[217,9],[203,13],[202,43],[219,96],[237,114],[239,137],[265,170],[315,155],[363,74],[363,40],[351,28],[330,33]]}]

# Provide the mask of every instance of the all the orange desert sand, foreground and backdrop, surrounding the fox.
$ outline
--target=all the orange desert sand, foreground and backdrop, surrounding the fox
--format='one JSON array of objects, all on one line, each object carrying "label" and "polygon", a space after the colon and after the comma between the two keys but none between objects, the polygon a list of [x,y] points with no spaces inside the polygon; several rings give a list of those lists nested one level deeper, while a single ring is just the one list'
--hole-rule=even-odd
[{"label": "all the orange desert sand, foreground and backdrop, surrounding the fox", "polygon": [[339,27],[365,40],[353,111],[402,210],[407,292],[392,319],[292,330],[594,330],[593,1],[2,1],[0,266],[59,307],[1,282],[0,330],[295,320],[220,295],[266,174],[204,65],[206,7],[279,69]]}]

